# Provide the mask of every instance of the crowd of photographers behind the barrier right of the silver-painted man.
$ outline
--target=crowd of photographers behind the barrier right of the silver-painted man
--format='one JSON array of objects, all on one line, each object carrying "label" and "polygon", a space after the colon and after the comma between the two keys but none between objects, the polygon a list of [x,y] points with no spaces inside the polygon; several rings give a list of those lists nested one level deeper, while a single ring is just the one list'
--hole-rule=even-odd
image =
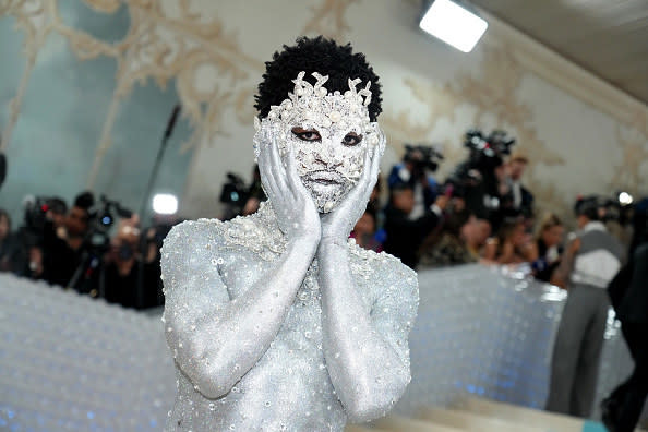
[{"label": "crowd of photographers behind the barrier right of the silver-painted man", "polygon": [[[482,159],[460,164],[439,182],[430,169],[435,163],[425,160],[434,152],[408,146],[403,161],[388,173],[385,205],[379,199],[384,179],[379,179],[351,237],[361,247],[388,252],[416,269],[467,263],[526,264],[535,278],[565,287],[556,269],[569,252],[568,237],[575,233],[566,235],[565,223],[555,213],[535,208],[532,192],[521,183],[528,158],[515,152],[475,153],[479,155],[471,154],[470,160]],[[641,238],[640,207],[633,223],[633,206],[602,196],[579,196],[575,218],[585,204],[593,206],[597,220],[624,248]]]}]

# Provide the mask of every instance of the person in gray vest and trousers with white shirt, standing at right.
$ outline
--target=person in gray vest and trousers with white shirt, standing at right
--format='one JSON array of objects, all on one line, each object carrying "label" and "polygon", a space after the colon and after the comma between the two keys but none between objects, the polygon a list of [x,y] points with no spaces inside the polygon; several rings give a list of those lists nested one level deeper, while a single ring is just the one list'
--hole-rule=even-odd
[{"label": "person in gray vest and trousers with white shirt, standing at right", "polygon": [[610,308],[605,288],[621,268],[624,250],[599,220],[595,199],[579,200],[575,209],[580,231],[552,277],[569,296],[553,347],[547,410],[588,418]]}]

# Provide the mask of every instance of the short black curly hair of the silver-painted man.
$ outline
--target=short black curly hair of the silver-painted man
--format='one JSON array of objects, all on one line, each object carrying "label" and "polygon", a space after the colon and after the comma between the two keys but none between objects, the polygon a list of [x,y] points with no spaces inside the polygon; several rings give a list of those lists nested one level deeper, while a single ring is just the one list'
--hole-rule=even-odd
[{"label": "short black curly hair of the silver-painted man", "polygon": [[362,87],[371,81],[371,103],[368,106],[370,120],[375,121],[383,110],[379,77],[363,53],[353,53],[351,44],[337,45],[322,36],[300,37],[297,45],[284,45],[281,52],[275,52],[273,60],[265,62],[263,81],[259,84],[259,94],[254,96],[254,108],[260,119],[268,115],[271,106],[280,105],[288,97],[288,93],[295,89],[292,80],[301,71],[305,72],[304,80],[311,84],[316,81],[312,72],[328,75],[324,87],[328,92],[339,91],[343,94],[349,89],[348,79],[362,80],[359,85]]}]

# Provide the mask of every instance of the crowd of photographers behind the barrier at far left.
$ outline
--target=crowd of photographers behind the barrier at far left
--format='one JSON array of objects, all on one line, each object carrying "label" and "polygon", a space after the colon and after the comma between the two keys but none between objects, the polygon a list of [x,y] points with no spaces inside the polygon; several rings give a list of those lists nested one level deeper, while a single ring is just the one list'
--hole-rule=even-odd
[{"label": "crowd of photographers behind the barrier at far left", "polygon": [[0,271],[125,308],[158,307],[159,251],[172,224],[156,219],[142,230],[137,215],[89,192],[71,206],[60,197],[36,199],[15,230],[0,209]]}]

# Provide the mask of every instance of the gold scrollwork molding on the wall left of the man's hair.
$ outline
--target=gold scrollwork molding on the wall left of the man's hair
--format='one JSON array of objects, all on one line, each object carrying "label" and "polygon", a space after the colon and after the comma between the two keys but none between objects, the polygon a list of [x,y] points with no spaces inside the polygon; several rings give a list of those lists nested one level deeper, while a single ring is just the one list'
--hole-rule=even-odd
[{"label": "gold scrollwork molding on the wall left of the man's hair", "polygon": [[[0,15],[14,16],[19,28],[24,32],[26,53],[25,73],[10,103],[11,116],[3,130],[2,145],[11,142],[31,71],[51,32],[65,37],[80,60],[99,56],[115,58],[118,64],[115,94],[109,101],[88,173],[89,189],[94,187],[104,155],[110,148],[110,135],[120,103],[130,95],[134,83],[153,79],[164,88],[170,80],[176,80],[183,116],[194,127],[193,135],[182,145],[183,149],[188,149],[201,140],[209,142],[223,133],[223,110],[241,95],[249,94],[244,85],[250,72],[256,74],[263,70],[263,62],[247,56],[235,35],[227,33],[218,19],[205,22],[192,11],[191,0],[170,0],[173,8],[163,8],[163,2],[153,0],[83,1],[105,14],[113,14],[121,7],[128,8],[130,27],[127,36],[108,44],[67,26],[59,17],[57,0],[3,0],[0,3]],[[169,2],[166,3],[168,5]],[[223,91],[224,87],[227,91]],[[243,105],[236,104],[238,109],[248,113]],[[237,118],[242,116],[237,112]]]}]

